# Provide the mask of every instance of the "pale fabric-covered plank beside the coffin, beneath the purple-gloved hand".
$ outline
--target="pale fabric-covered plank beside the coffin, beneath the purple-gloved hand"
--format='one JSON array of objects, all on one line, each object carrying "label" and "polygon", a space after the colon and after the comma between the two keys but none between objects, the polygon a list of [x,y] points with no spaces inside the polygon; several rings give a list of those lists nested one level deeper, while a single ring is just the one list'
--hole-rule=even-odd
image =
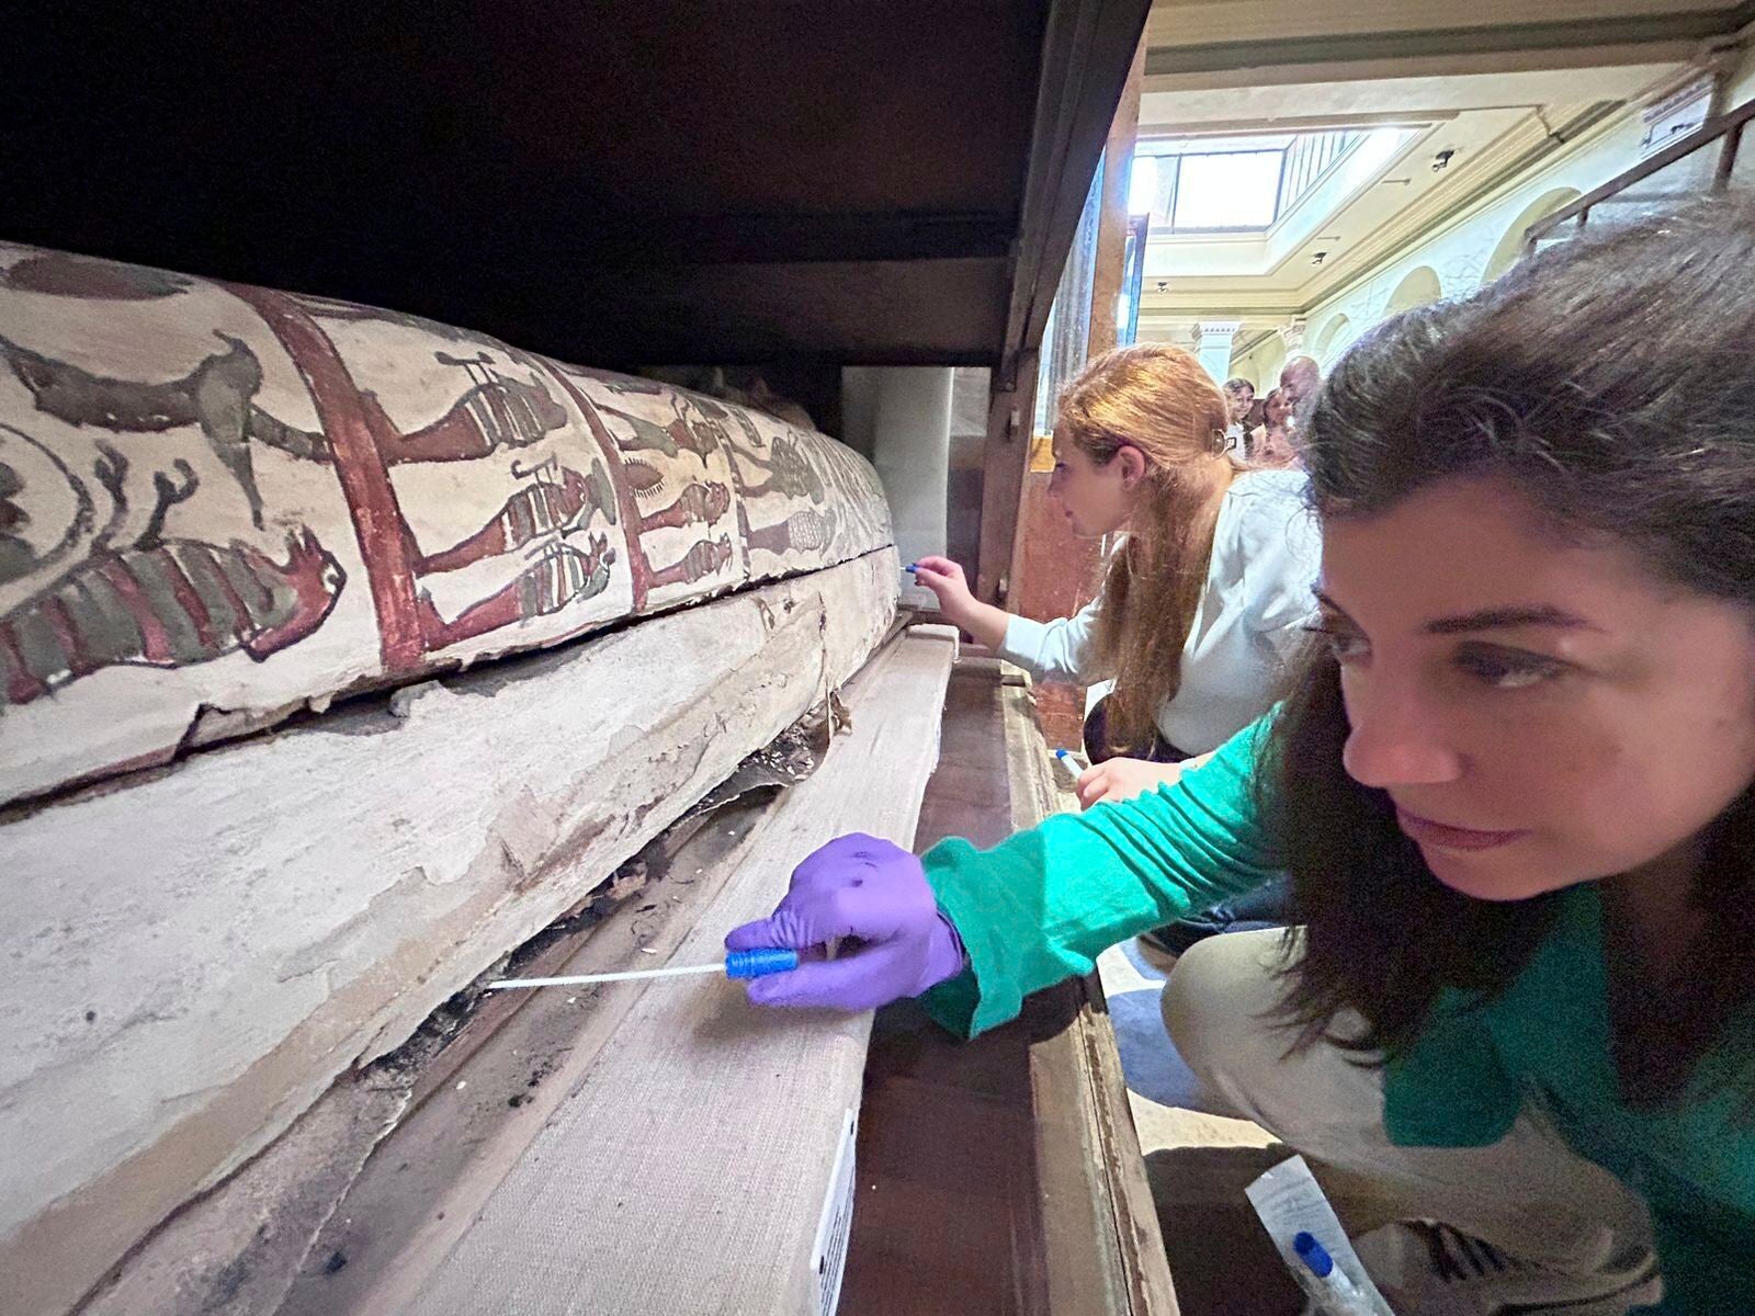
[{"label": "pale fabric-covered plank beside the coffin, beneath the purple-gloved hand", "polygon": [[[955,632],[918,626],[849,688],[851,732],[763,819],[677,962],[767,914],[844,832],[914,833]],[[870,1014],[762,1012],[732,983],[648,986],[404,1316],[816,1312],[813,1242],[858,1109]]]}]

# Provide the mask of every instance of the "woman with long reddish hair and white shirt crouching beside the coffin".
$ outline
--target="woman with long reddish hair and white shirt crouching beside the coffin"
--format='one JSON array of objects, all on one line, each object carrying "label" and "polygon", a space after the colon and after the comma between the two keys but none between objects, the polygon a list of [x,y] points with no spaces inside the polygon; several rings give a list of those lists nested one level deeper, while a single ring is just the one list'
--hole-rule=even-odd
[{"label": "woman with long reddish hair and white shirt crouching beside the coffin", "polygon": [[1072,533],[1125,532],[1078,616],[1032,621],[983,604],[948,558],[914,579],[948,621],[1037,677],[1113,679],[1092,711],[1079,802],[1172,781],[1272,702],[1313,607],[1320,544],[1302,472],[1246,470],[1227,451],[1230,409],[1181,347],[1097,358],[1060,398],[1049,495]]}]

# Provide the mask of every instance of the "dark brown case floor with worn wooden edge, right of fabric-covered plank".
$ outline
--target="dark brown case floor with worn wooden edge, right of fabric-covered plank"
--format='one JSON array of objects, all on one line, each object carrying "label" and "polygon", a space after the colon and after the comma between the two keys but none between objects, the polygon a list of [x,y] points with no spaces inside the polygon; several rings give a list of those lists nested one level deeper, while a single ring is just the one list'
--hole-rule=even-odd
[{"label": "dark brown case floor with worn wooden edge, right of fabric-covered plank", "polygon": [[[1032,712],[992,660],[956,663],[916,849],[1071,805]],[[1095,976],[972,1042],[914,1002],[879,1011],[865,1102],[841,1316],[1176,1316]]]}]

